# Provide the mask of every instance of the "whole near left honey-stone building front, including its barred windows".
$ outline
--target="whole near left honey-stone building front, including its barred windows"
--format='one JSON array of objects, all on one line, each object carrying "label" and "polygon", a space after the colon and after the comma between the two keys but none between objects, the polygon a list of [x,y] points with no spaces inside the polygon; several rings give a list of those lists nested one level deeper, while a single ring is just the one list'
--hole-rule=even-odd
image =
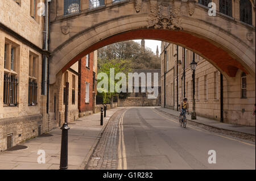
[{"label": "whole near left honey-stone building front, including its barred windows", "polygon": [[0,151],[48,129],[43,16],[32,7],[30,0],[0,1]]}]

